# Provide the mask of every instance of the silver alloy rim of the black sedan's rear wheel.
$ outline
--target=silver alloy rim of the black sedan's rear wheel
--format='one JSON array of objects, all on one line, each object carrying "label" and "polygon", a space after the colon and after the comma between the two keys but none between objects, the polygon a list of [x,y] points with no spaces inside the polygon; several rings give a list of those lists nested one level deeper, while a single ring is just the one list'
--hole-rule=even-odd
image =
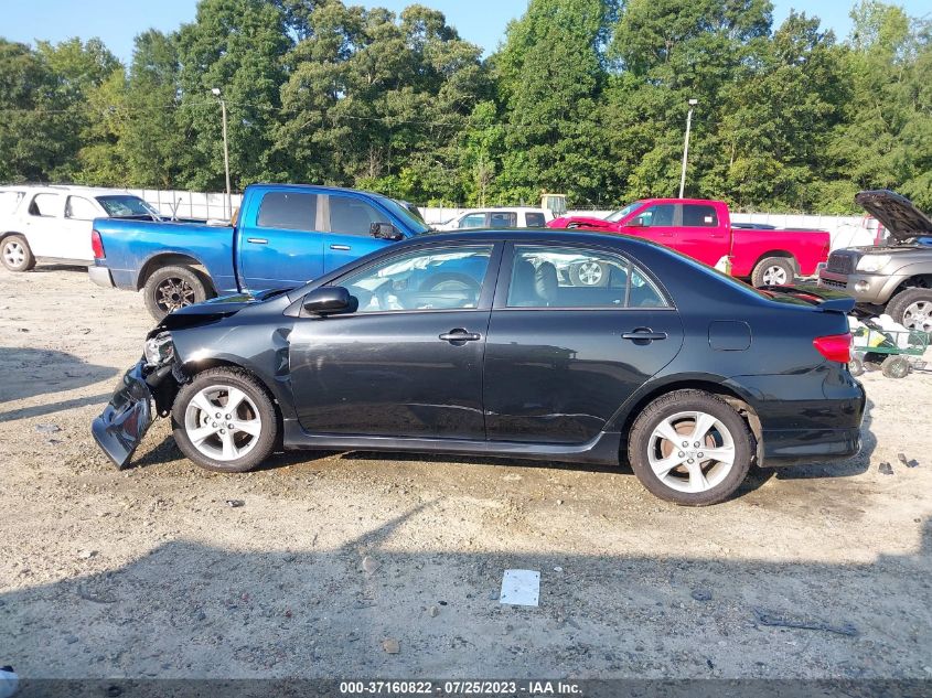
[{"label": "silver alloy rim of the black sedan's rear wheel", "polygon": [[657,479],[678,492],[699,493],[724,481],[735,465],[731,432],[707,412],[677,412],[651,433],[647,460]]}]

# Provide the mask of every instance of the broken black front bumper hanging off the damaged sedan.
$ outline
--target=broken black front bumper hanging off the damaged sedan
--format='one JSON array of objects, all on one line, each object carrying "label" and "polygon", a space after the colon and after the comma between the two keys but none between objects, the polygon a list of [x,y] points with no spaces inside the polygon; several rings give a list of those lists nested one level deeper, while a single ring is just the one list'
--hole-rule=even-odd
[{"label": "broken black front bumper hanging off the damaged sedan", "polygon": [[152,368],[140,359],[126,372],[110,402],[92,423],[94,440],[117,468],[126,466],[152,425],[152,402],[160,414],[167,412],[160,402],[165,397],[162,386],[167,378],[172,379],[171,374],[171,365]]}]

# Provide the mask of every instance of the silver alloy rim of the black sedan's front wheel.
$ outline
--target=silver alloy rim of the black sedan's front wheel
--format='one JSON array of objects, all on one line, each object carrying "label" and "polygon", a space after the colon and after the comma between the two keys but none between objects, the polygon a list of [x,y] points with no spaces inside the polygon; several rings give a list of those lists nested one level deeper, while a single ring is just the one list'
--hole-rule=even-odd
[{"label": "silver alloy rim of the black sedan's front wheel", "polygon": [[258,443],[263,420],[246,393],[228,385],[213,385],[188,404],[184,430],[194,448],[207,458],[235,461]]}]

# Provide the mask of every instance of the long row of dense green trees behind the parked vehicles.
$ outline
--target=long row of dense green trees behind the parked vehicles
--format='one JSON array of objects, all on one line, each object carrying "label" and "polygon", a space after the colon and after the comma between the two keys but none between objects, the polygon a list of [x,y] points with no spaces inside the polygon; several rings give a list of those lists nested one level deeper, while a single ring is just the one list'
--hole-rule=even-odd
[{"label": "long row of dense green trees behind the parked vehicles", "polygon": [[769,0],[529,0],[483,61],[442,13],[201,0],[136,37],[0,39],[0,181],[222,190],[320,182],[422,204],[614,206],[688,195],[848,213],[860,189],[932,208],[932,25],[858,0],[839,43]]}]

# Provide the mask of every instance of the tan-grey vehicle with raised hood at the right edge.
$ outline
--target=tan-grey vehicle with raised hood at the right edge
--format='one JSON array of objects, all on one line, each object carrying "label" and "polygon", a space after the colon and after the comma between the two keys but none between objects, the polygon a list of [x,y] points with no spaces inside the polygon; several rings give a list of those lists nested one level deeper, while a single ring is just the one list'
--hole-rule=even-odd
[{"label": "tan-grey vehicle with raised hood at the right edge", "polygon": [[818,286],[838,289],[869,310],[882,310],[911,330],[932,332],[932,221],[904,196],[861,192],[855,201],[887,228],[877,247],[836,249]]}]

